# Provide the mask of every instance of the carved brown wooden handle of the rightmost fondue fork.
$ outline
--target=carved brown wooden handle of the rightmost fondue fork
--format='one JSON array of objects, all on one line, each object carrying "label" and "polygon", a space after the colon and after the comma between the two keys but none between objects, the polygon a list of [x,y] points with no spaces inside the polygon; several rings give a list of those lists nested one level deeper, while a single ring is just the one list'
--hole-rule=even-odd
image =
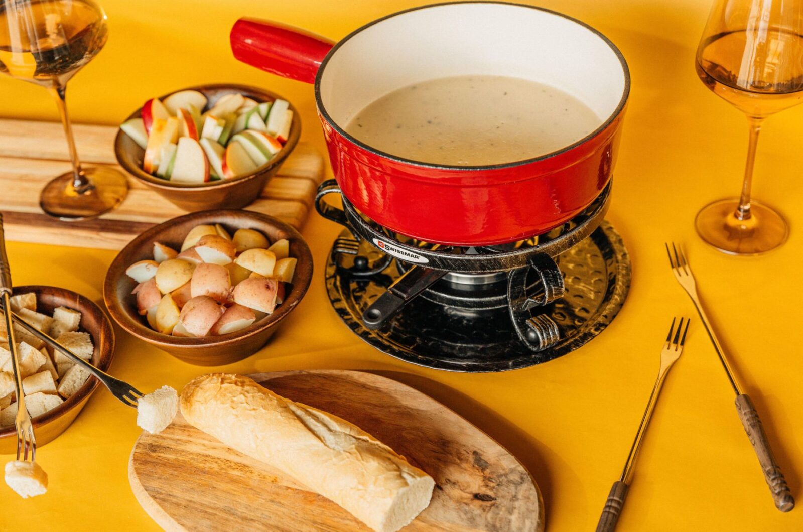
[{"label": "carved brown wooden handle of the rightmost fondue fork", "polygon": [[739,418],[742,420],[742,425],[744,425],[744,432],[748,433],[750,443],[756,451],[759,464],[761,464],[761,471],[764,472],[764,480],[767,481],[776,508],[780,509],[781,512],[788,512],[795,507],[795,499],[792,497],[792,493],[789,492],[784,473],[781,473],[781,467],[772,454],[772,448],[769,447],[769,440],[767,440],[767,434],[764,432],[764,426],[761,424],[756,407],[753,406],[748,395],[736,395],[736,410],[739,411]]}]

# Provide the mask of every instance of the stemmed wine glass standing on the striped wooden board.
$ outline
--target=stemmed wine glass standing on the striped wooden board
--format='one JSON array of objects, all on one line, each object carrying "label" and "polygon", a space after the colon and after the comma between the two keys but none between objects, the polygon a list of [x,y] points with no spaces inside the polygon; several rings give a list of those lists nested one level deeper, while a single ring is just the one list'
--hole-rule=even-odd
[{"label": "stemmed wine glass standing on the striped wooden board", "polygon": [[93,0],[0,0],[0,72],[47,88],[55,96],[72,170],[43,188],[47,215],[79,220],[102,215],[128,194],[124,174],[108,166],[82,168],[65,95],[67,81],[106,43],[106,14]]}]

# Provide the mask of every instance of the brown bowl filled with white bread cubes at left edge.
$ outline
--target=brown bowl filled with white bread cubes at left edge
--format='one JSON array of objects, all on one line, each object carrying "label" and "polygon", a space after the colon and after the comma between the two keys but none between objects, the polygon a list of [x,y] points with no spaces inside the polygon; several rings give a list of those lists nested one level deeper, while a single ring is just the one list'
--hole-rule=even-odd
[{"label": "brown bowl filled with white bread cubes at left edge", "polygon": [[[52,286],[18,286],[14,287],[11,308],[80,358],[108,371],[114,354],[114,332],[104,311],[88,298]],[[87,370],[54,352],[22,325],[14,325],[14,339],[22,393],[34,424],[37,447],[41,447],[70,426],[99,383]],[[16,452],[16,415],[8,333],[5,321],[0,319],[0,454]]]}]

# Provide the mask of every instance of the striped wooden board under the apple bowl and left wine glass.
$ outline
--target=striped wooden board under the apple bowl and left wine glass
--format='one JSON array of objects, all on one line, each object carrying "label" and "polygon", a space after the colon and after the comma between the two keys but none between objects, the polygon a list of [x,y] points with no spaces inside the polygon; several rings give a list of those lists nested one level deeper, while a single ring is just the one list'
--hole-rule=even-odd
[{"label": "striped wooden board under the apple bowl and left wine glass", "polygon": [[[73,129],[84,164],[116,166],[116,127],[76,124]],[[0,211],[6,239],[121,249],[154,224],[186,214],[129,176],[128,197],[116,210],[82,222],[52,219],[39,208],[39,192],[45,183],[67,170],[67,141],[59,123],[0,120]],[[300,229],[312,211],[323,177],[320,153],[300,142],[267,183],[262,196],[246,209],[275,216]]]}]

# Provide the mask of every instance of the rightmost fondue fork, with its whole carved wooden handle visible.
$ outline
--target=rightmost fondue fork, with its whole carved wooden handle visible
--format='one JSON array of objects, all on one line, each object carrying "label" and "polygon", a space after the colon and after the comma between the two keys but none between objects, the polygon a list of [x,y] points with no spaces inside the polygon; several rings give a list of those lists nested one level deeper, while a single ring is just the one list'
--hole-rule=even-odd
[{"label": "rightmost fondue fork, with its whole carved wooden handle visible", "polygon": [[764,480],[767,481],[769,491],[772,493],[772,500],[775,501],[776,508],[780,509],[781,512],[789,512],[795,507],[794,497],[789,492],[789,485],[786,484],[784,473],[781,473],[781,467],[778,465],[775,455],[772,453],[772,448],[769,446],[769,440],[764,432],[756,407],[753,406],[748,395],[742,393],[741,387],[736,382],[736,377],[728,363],[728,357],[719,344],[719,339],[711,326],[711,321],[708,321],[707,314],[700,303],[699,294],[697,293],[695,276],[691,273],[691,267],[686,260],[686,256],[683,255],[683,249],[679,246],[676,247],[675,243],[672,243],[672,250],[670,251],[669,244],[666,243],[664,245],[666,246],[666,254],[669,256],[669,264],[675,274],[675,279],[678,280],[678,283],[686,290],[691,301],[694,302],[697,313],[699,313],[700,319],[703,320],[703,325],[705,325],[708,338],[711,338],[711,343],[714,344],[714,350],[719,357],[719,362],[722,362],[725,374],[728,375],[728,381],[736,393],[736,411],[739,413],[739,419],[741,419],[744,426],[744,432],[747,432],[748,440],[750,440],[753,450],[758,456],[761,471],[764,473]]}]

